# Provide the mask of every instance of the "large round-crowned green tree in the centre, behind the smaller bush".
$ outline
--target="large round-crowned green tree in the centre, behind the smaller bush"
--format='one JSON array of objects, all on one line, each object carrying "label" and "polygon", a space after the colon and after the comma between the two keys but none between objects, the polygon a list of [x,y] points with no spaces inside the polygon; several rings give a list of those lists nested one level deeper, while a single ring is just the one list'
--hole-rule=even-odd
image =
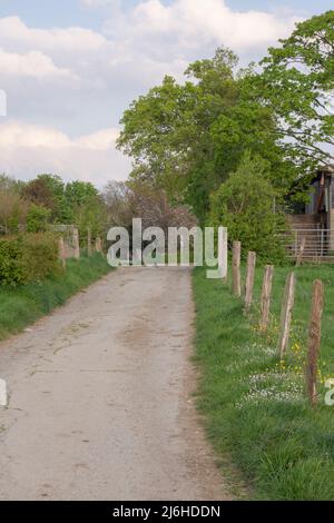
[{"label": "large round-crowned green tree in the centre, behind the smaller bush", "polygon": [[219,48],[213,59],[188,67],[185,83],[166,77],[134,101],[121,119],[118,147],[132,158],[131,177],[189,204],[202,221],[209,195],[246,149],[271,162],[275,179],[288,171],[282,167],[271,108],[248,97],[254,72],[238,71],[237,61],[230,50]]}]

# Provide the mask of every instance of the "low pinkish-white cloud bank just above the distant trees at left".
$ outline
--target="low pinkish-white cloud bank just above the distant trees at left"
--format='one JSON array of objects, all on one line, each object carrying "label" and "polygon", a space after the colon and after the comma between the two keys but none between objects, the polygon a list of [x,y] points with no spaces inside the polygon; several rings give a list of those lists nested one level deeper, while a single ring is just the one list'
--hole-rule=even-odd
[{"label": "low pinkish-white cloud bank just above the distant trees at left", "polygon": [[115,148],[117,136],[114,128],[70,138],[48,126],[2,124],[0,171],[23,179],[55,172],[101,187],[109,179],[125,179],[129,172],[129,164]]}]

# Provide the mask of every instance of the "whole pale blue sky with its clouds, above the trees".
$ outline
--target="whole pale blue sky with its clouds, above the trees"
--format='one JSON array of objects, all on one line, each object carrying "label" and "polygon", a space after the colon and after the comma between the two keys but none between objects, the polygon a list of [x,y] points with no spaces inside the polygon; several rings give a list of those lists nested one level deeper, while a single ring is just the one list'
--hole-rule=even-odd
[{"label": "whole pale blue sky with its clouds, above the trees", "polygon": [[333,0],[0,0],[0,172],[53,171],[104,185],[129,102],[225,45],[242,65]]}]

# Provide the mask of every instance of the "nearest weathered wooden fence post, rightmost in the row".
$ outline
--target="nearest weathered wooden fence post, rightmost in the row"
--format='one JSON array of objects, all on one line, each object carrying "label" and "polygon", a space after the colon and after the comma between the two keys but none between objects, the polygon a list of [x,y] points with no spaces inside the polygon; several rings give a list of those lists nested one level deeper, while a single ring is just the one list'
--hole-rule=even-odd
[{"label": "nearest weathered wooden fence post, rightmost in the row", "polygon": [[316,376],[317,359],[322,337],[322,315],[324,308],[324,285],[320,279],[313,283],[312,310],[308,327],[308,354],[306,365],[306,387],[312,406],[317,403]]}]

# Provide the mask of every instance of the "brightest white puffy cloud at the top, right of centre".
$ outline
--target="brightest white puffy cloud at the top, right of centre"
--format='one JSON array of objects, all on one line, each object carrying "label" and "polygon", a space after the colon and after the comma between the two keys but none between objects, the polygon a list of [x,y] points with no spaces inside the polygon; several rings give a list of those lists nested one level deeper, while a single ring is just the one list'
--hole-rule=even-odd
[{"label": "brightest white puffy cloud at the top, right of centre", "polygon": [[[97,2],[92,0],[90,3]],[[158,38],[164,47],[168,48],[168,42],[180,45],[183,51],[200,49],[208,43],[224,43],[243,51],[273,43],[288,34],[297,20],[297,17],[283,11],[234,11],[224,0],[175,0],[168,6],[160,0],[145,0],[118,29],[122,34],[126,30],[126,37],[132,41]],[[115,33],[112,19],[107,22],[106,30]]]}]

